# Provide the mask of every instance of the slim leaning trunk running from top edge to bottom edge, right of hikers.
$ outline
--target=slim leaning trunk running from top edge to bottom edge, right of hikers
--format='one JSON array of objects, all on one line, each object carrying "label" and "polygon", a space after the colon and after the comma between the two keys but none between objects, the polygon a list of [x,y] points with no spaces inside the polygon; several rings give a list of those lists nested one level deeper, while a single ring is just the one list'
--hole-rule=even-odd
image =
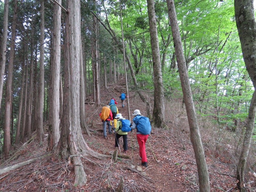
[{"label": "slim leaning trunk running from top edge to bottom edge, right of hikers", "polygon": [[207,165],[204,156],[203,144],[201,141],[201,136],[199,132],[199,127],[196,119],[196,111],[193,103],[192,93],[190,89],[188,71],[186,68],[186,61],[182,49],[182,43],[180,38],[180,31],[178,27],[177,16],[175,12],[173,0],[167,0],[169,19],[172,28],[173,43],[180,73],[180,81],[182,92],[185,100],[187,115],[188,115],[188,124],[190,130],[190,140],[192,142],[194,153],[196,157],[196,165],[198,171],[199,179],[199,191],[200,192],[209,192],[210,191],[210,182],[209,175],[207,170]]}]

